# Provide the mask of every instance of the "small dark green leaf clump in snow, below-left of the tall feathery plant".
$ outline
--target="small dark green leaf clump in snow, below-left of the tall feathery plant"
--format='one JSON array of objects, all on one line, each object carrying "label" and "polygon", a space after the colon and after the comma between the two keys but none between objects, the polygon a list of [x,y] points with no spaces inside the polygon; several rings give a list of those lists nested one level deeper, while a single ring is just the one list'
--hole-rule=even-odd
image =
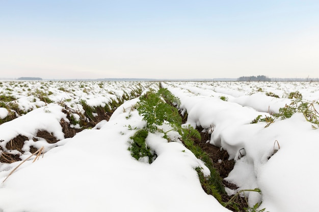
[{"label": "small dark green leaf clump in snow, below-left of the tall feathery plant", "polygon": [[131,146],[128,147],[128,150],[131,152],[131,156],[136,160],[140,158],[148,157],[148,162],[152,163],[156,157],[156,154],[153,154],[149,146],[147,146],[145,139],[148,135],[148,131],[141,129],[137,131],[134,136],[131,136],[132,140]]}]

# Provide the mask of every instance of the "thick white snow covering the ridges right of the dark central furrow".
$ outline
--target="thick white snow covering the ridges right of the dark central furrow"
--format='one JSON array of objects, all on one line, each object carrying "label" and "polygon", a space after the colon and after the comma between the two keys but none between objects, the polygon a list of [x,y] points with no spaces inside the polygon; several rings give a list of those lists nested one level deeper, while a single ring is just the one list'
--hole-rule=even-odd
[{"label": "thick white snow covering the ridges right of the dark central furrow", "polygon": [[[265,115],[262,108],[272,105],[273,98],[263,95],[262,99],[262,94],[249,97],[243,94],[229,99],[242,103],[234,105],[218,97],[214,99],[214,95],[207,94],[207,90],[201,95],[198,92],[194,95],[184,92],[187,89],[185,85],[180,89],[178,85],[168,83],[167,87],[181,99],[180,109],[188,111],[188,123],[204,128],[212,126],[214,132],[210,143],[226,149],[230,158],[235,159],[235,167],[225,179],[236,184],[239,187],[237,190],[258,187],[262,191],[262,197],[256,192],[246,192],[251,205],[262,200],[259,208],[271,212],[316,210],[314,198],[319,189],[319,173],[314,164],[319,147],[319,131],[313,130],[302,114],[296,113],[284,120],[276,119],[264,128],[265,123],[250,122],[258,114]],[[294,89],[299,90],[299,87],[295,86]],[[308,92],[313,94],[311,89]],[[307,94],[305,90],[303,94]],[[250,99],[250,104],[248,101],[236,101],[241,97]],[[314,96],[311,100],[314,100]],[[286,98],[278,99],[277,104],[281,102],[281,107],[284,107],[289,101]],[[245,154],[241,149],[245,149]],[[275,149],[277,152],[274,154]]]}]

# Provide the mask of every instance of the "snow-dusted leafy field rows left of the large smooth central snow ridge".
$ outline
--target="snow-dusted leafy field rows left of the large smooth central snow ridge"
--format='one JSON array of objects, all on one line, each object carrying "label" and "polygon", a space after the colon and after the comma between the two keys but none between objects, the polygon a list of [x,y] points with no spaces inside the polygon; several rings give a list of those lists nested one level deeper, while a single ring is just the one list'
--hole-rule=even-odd
[{"label": "snow-dusted leafy field rows left of the large smooth central snow ridge", "polygon": [[[153,82],[0,82],[0,162],[59,145],[84,129],[109,120],[123,102],[139,97]],[[38,115],[36,115],[38,114]],[[22,123],[22,124],[21,124]]]}]

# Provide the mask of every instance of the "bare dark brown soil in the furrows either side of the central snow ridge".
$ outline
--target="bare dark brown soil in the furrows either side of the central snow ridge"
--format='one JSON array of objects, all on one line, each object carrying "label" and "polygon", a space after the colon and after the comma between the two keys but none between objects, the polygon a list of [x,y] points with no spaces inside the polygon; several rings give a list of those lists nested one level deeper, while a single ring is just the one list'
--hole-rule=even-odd
[{"label": "bare dark brown soil in the furrows either side of the central snow ridge", "polygon": [[[67,112],[67,111],[64,111]],[[65,135],[65,138],[71,138],[73,137],[76,133],[81,132],[82,130],[90,127],[94,127],[98,122],[101,120],[109,120],[112,112],[105,112],[102,107],[97,107],[95,108],[94,111],[97,116],[94,116],[93,118],[88,118],[89,121],[84,125],[85,127],[82,129],[75,129],[71,128],[70,124],[66,122],[64,119],[61,119],[60,125],[62,127],[62,131]],[[184,114],[183,116],[181,115],[183,123],[187,121],[187,114]],[[67,118],[70,119],[69,114],[67,113]],[[233,169],[233,166],[235,164],[234,160],[228,160],[229,155],[225,150],[222,150],[221,148],[209,144],[207,142],[210,140],[210,134],[202,132],[203,128],[198,127],[197,130],[201,133],[201,140],[195,140],[195,144],[200,146],[204,152],[206,152],[211,160],[214,162],[214,167],[219,171],[220,176],[222,178],[225,178],[228,176],[229,172]],[[56,143],[59,140],[52,134],[50,134],[47,131],[38,131],[36,136],[33,137],[32,139],[36,142],[40,140],[40,138],[45,139],[48,143]],[[6,144],[6,148],[9,150],[9,152],[5,149],[2,149],[0,146],[0,150],[2,150],[2,154],[0,155],[0,162],[2,163],[12,163],[15,161],[21,161],[20,155],[23,154],[24,152],[22,151],[22,147],[24,145],[24,142],[29,140],[28,137],[23,136],[23,135],[18,135],[14,139],[10,140]],[[12,154],[10,153],[10,150],[18,150],[20,154]],[[35,148],[34,146],[31,146],[30,152],[35,153],[38,149]],[[230,184],[227,181],[223,181],[225,187],[228,187],[230,189],[236,189],[236,185]],[[228,196],[227,194],[222,195],[222,201],[227,202],[231,197]],[[238,205],[240,205],[241,210],[244,211],[243,207],[245,207],[245,202],[242,197],[239,197],[238,199]],[[230,210],[233,210],[233,208],[228,208]],[[236,210],[233,210],[236,211]]]}]

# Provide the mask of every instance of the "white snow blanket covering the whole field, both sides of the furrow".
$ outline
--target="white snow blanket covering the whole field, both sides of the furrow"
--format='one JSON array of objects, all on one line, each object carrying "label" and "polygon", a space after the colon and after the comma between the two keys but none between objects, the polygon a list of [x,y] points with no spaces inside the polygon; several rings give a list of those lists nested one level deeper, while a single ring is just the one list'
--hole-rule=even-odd
[{"label": "white snow blanket covering the whole field, both sides of the furrow", "polygon": [[[39,86],[34,83],[29,86]],[[209,170],[179,142],[176,132],[169,134],[175,142],[168,142],[161,133],[148,135],[146,142],[157,154],[152,164],[131,157],[130,137],[145,125],[133,107],[138,98],[125,101],[109,121],[102,120],[92,129],[64,138],[59,123],[61,119],[69,120],[58,101],[71,99],[65,103],[74,110],[79,99],[92,106],[103,106],[121,97],[123,91],[130,94],[134,86],[104,82],[104,86],[113,90],[107,94],[97,83],[74,82],[67,88],[73,88],[74,92],[65,97],[57,88],[66,85],[57,83],[47,85],[54,93],[50,98],[55,102],[50,104],[34,102],[32,98],[28,102],[28,94],[23,93],[21,86],[15,90],[14,96],[21,99],[16,101],[19,106],[32,111],[0,125],[0,139],[4,140],[1,147],[6,149],[6,143],[21,134],[29,138],[24,143],[22,159],[31,155],[28,149],[31,145],[44,146],[45,154],[34,163],[33,156],[7,179],[21,162],[0,163],[0,211],[229,211],[203,191],[194,168],[202,167],[206,175]],[[154,85],[148,84],[145,89]],[[239,188],[227,189],[229,195],[259,188],[261,195],[245,192],[251,206],[262,201],[259,209],[270,212],[317,210],[319,173],[315,165],[319,130],[312,129],[300,113],[282,120],[277,118],[266,128],[265,122],[251,124],[251,121],[288,105],[291,100],[284,95],[289,92],[299,90],[303,99],[318,100],[318,83],[163,82],[162,85],[181,100],[179,109],[188,113],[185,125],[208,130],[211,133],[208,142],[227,150],[230,159],[235,160],[234,169],[225,179]],[[85,88],[91,96],[82,92]],[[262,92],[257,92],[258,88]],[[280,98],[269,97],[266,92]],[[221,96],[228,101],[222,101]],[[0,109],[4,118],[7,113]],[[32,137],[38,130],[46,130],[60,141],[35,142]]]}]

